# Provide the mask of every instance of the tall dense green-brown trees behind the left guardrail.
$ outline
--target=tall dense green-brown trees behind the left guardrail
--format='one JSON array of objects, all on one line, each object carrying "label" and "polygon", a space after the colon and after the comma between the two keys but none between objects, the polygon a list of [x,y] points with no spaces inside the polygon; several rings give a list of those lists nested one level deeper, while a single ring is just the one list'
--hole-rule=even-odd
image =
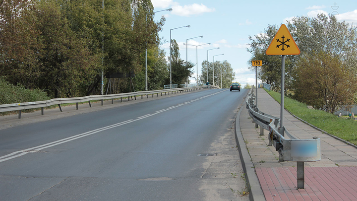
[{"label": "tall dense green-brown trees behind the left guardrail", "polygon": [[[162,62],[164,22],[153,21],[150,0],[105,0],[104,9],[101,0],[0,1],[0,73],[51,97],[97,94],[102,70],[140,75],[146,48],[155,61],[149,69],[159,69],[151,65]],[[151,79],[153,88],[162,83]]]}]

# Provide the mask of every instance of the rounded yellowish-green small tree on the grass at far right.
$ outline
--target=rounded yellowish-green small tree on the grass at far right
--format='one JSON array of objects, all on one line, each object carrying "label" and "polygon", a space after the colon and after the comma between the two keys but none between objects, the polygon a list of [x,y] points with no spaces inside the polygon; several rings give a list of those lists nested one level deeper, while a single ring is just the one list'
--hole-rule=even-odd
[{"label": "rounded yellowish-green small tree on the grass at far right", "polygon": [[303,55],[297,63],[295,98],[334,113],[340,105],[354,102],[357,78],[338,57],[319,52]]}]

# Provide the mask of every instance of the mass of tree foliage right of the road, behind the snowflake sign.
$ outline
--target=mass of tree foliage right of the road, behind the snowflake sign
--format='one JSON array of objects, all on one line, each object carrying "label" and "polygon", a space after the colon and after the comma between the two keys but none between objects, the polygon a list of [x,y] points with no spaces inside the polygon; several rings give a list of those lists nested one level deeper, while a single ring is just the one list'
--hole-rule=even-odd
[{"label": "mass of tree foliage right of the road, behind the snowflake sign", "polygon": [[[341,83],[337,83],[336,80],[356,85],[353,77],[344,74],[357,74],[357,27],[346,22],[338,22],[335,16],[324,14],[312,18],[295,17],[288,22],[287,27],[301,54],[286,57],[285,94],[316,107],[326,108],[329,112],[338,104],[351,103],[354,97],[350,95],[357,93],[356,87],[351,85],[346,91],[346,87],[340,88]],[[271,84],[275,91],[279,91],[281,85],[281,57],[268,56],[265,51],[277,30],[277,26],[268,25],[263,33],[254,37],[249,36],[250,48],[247,49],[252,54],[248,63],[252,60],[263,61],[263,66],[258,68],[258,78]],[[328,65],[328,61],[332,63]],[[316,71],[308,70],[309,65]],[[336,68],[336,74],[332,73],[332,67]],[[253,67],[250,69],[253,70]],[[317,75],[316,72],[320,74]],[[341,75],[345,76],[343,80]],[[321,87],[320,91],[317,91],[317,86],[314,85],[316,82],[319,84],[318,87]],[[340,90],[338,94],[327,86],[328,82],[330,86]],[[305,93],[304,90],[307,89],[311,91]]]}]

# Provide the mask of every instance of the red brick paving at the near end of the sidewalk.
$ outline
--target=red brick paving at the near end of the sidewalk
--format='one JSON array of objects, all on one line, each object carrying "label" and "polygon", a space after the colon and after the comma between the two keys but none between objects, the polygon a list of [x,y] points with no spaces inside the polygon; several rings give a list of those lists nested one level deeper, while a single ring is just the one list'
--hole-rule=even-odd
[{"label": "red brick paving at the near end of the sidewalk", "polygon": [[294,167],[255,171],[267,201],[357,201],[357,167],[305,167],[305,189]]}]

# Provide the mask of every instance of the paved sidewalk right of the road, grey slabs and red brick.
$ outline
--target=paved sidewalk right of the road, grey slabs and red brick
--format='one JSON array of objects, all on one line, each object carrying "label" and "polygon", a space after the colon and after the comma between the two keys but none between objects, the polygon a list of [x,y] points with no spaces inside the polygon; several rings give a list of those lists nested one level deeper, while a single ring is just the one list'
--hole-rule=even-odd
[{"label": "paved sidewalk right of the road, grey slabs and red brick", "polygon": [[[280,104],[263,89],[258,89],[258,108],[280,118]],[[259,135],[260,128],[255,128],[247,109],[243,108],[238,118],[251,157],[244,160],[252,160],[267,201],[357,200],[357,148],[304,124],[285,110],[284,126],[291,134],[300,139],[321,140],[321,160],[304,163],[305,189],[297,190],[297,163],[278,161],[278,152],[268,146],[268,132]]]}]

